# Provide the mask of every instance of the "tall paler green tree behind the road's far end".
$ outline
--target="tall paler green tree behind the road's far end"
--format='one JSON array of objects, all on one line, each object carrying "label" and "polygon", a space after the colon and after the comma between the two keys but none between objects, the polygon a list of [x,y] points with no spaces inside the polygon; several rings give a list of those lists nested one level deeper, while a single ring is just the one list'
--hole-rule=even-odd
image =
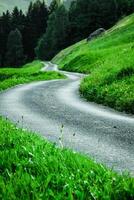
[{"label": "tall paler green tree behind the road's far end", "polygon": [[61,5],[49,17],[46,33],[36,48],[38,58],[49,60],[67,46],[68,24],[68,12]]}]

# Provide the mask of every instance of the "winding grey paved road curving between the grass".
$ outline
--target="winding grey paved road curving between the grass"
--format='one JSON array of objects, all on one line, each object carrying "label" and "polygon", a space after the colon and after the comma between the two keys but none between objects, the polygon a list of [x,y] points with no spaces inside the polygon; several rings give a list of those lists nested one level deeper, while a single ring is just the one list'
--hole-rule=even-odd
[{"label": "winding grey paved road curving between the grass", "polygon": [[[44,70],[57,67],[48,63]],[[0,93],[0,115],[58,144],[64,125],[64,146],[134,174],[134,117],[86,102],[78,92],[83,75],[63,73],[68,79],[19,85]]]}]

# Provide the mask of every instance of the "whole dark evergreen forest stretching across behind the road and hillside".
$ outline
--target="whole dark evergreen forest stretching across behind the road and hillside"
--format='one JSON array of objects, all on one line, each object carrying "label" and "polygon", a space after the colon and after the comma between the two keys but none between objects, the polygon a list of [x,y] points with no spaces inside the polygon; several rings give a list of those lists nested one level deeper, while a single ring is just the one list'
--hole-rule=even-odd
[{"label": "whole dark evergreen forest stretching across behind the road and hillside", "polygon": [[0,66],[20,66],[35,57],[50,60],[61,49],[133,12],[133,0],[74,0],[69,9],[60,0],[49,7],[37,0],[26,14],[15,7],[0,17]]}]

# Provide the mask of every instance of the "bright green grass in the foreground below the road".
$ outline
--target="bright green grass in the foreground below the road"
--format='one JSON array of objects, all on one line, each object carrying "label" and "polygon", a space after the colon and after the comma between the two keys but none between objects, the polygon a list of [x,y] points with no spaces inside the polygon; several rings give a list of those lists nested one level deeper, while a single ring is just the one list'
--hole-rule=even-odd
[{"label": "bright green grass in the foreground below the road", "polygon": [[0,119],[0,199],[133,198],[133,178]]}]

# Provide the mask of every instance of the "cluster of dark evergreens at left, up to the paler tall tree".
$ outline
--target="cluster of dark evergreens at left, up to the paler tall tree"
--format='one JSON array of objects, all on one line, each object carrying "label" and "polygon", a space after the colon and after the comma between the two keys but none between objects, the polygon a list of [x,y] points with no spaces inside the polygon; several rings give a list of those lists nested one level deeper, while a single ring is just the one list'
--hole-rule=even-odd
[{"label": "cluster of dark evergreens at left, up to the paler tall tree", "polygon": [[44,1],[30,3],[26,14],[17,7],[0,17],[0,66],[19,66],[35,58],[35,47],[46,32],[49,9]]}]

